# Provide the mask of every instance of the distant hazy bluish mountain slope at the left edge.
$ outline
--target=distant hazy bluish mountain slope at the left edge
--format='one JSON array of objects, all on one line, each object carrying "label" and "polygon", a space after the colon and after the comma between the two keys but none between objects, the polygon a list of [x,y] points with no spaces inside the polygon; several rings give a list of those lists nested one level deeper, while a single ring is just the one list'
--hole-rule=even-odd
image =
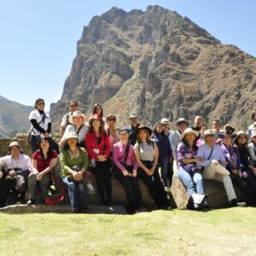
[{"label": "distant hazy bluish mountain slope at the left edge", "polygon": [[0,137],[14,137],[17,132],[28,132],[32,107],[9,101],[0,96]]}]

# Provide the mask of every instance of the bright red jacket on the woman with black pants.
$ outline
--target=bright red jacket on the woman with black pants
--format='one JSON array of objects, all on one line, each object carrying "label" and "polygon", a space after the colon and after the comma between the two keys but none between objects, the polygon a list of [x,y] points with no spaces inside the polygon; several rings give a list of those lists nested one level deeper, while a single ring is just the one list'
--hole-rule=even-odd
[{"label": "bright red jacket on the woman with black pants", "polygon": [[[101,132],[101,138],[97,140],[96,132],[87,132],[85,136],[85,148],[89,154],[89,159],[95,158],[98,160],[98,155],[109,156],[111,150],[109,137],[106,132]],[[98,141],[98,143],[97,143]],[[95,149],[98,149],[99,153],[97,154]]]}]

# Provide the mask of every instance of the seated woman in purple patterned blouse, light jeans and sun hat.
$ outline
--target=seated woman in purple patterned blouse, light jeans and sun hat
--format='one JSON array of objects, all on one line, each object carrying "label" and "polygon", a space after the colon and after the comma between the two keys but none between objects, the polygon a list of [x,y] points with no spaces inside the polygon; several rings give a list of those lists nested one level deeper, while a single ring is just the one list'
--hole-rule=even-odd
[{"label": "seated woman in purple patterned blouse, light jeans and sun hat", "polygon": [[196,166],[197,162],[204,161],[196,157],[195,139],[198,135],[198,131],[187,128],[181,135],[182,142],[177,146],[177,177],[183,182],[189,197],[193,194],[205,195],[201,169]]}]

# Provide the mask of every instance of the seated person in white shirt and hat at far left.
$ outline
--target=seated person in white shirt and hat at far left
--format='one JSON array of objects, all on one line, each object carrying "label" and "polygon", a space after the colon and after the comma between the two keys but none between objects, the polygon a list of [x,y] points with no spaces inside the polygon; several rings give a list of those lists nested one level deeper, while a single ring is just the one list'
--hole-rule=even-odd
[{"label": "seated person in white shirt and hat at far left", "polygon": [[12,178],[9,204],[25,203],[27,178],[32,171],[30,157],[23,154],[18,142],[12,142],[9,144],[9,154],[1,157],[0,161],[7,169],[9,177]]}]

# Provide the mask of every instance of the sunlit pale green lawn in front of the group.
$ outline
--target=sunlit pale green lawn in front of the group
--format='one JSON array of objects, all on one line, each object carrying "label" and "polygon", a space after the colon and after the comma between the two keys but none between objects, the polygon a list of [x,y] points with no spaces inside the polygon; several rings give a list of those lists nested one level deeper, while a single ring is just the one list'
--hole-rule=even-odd
[{"label": "sunlit pale green lawn in front of the group", "polygon": [[1,255],[256,255],[256,208],[0,213]]}]

